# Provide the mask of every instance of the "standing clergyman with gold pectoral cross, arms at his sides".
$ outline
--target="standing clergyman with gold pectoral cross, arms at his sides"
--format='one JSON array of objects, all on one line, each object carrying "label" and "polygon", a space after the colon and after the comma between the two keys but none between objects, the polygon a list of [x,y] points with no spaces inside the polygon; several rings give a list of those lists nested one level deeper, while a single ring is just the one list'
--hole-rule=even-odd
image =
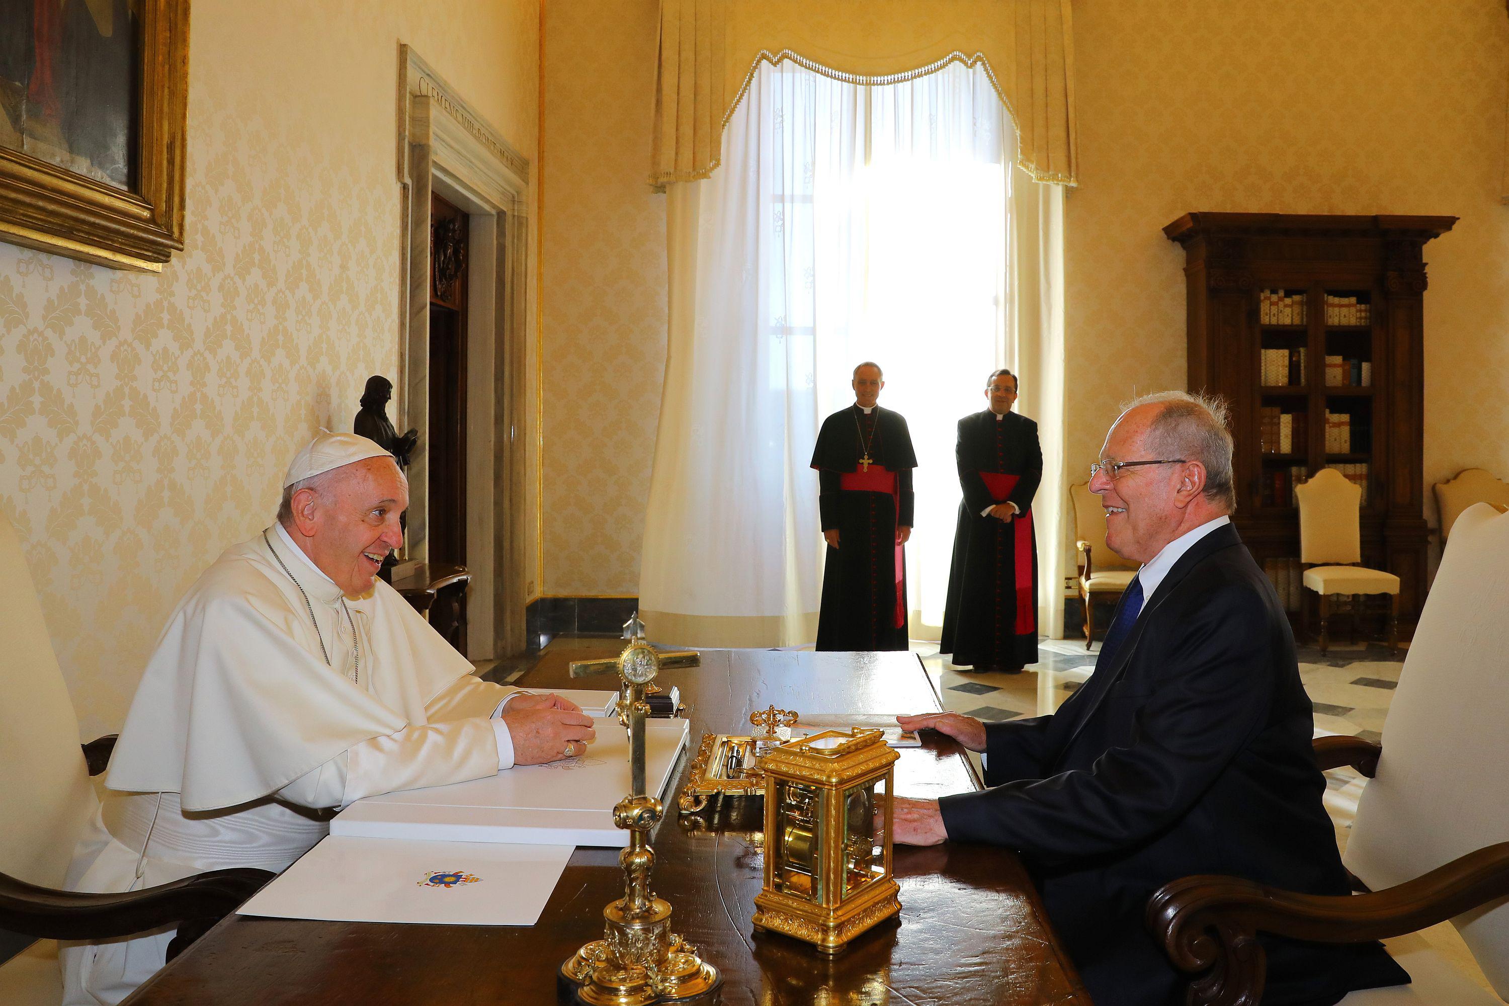
[{"label": "standing clergyman with gold pectoral cross, arms at his sides", "polygon": [[[857,403],[822,421],[812,468],[818,511],[828,538],[822,570],[819,650],[905,650],[911,469],[917,457],[898,412],[868,407],[859,388],[872,365],[856,370]],[[878,394],[878,373],[874,368]],[[837,547],[834,535],[837,532]]]}]

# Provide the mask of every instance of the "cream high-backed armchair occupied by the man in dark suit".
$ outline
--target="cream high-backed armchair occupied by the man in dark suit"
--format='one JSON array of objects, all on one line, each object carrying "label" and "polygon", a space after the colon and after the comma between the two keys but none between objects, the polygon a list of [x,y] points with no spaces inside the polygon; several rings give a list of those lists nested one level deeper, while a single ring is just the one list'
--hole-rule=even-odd
[{"label": "cream high-backed armchair occupied by the man in dark suit", "polygon": [[[1418,937],[1447,919],[1509,998],[1509,801],[1503,762],[1509,689],[1500,686],[1509,611],[1509,516],[1462,513],[1420,612],[1382,744],[1320,738],[1316,760],[1369,777],[1343,857],[1369,893],[1319,897],[1249,881],[1189,876],[1148,902],[1148,925],[1192,976],[1191,1003],[1257,1003],[1255,934],[1320,943],[1388,940],[1414,983],[1352,992],[1345,1006],[1498,1003]],[[1243,998],[1246,995],[1246,998]]]}]

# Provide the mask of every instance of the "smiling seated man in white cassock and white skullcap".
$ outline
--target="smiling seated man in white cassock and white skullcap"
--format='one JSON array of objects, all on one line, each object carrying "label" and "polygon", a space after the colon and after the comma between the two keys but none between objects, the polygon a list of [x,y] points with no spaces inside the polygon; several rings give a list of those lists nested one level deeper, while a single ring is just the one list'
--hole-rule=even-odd
[{"label": "smiling seated man in white cassock and white skullcap", "polygon": [[[146,664],[68,885],[127,891],[204,870],[282,870],[330,808],[585,751],[558,695],[481,682],[392,587],[407,483],[392,455],[321,433],[284,477],[278,520],[178,603]],[[65,1003],[118,1003],[172,932],[65,944]]]}]

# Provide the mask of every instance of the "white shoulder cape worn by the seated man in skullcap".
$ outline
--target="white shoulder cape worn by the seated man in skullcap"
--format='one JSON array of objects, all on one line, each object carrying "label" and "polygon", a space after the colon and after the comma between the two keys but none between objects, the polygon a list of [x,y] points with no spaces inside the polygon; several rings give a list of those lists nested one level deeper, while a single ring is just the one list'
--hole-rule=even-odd
[{"label": "white shoulder cape worn by the seated man in skullcap", "polygon": [[324,664],[303,596],[263,537],[228,549],[167,620],[106,784],[177,792],[186,811],[234,807],[424,725],[426,703],[471,662],[388,584],[350,603],[371,612],[371,692]]}]

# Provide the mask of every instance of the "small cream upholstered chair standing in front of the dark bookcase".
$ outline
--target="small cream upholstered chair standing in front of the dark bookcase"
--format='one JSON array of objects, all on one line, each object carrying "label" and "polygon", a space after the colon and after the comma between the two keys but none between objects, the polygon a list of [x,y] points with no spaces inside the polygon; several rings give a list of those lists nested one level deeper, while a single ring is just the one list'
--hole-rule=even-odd
[{"label": "small cream upholstered chair standing in front of the dark bookcase", "polygon": [[1399,649],[1399,578],[1367,569],[1363,561],[1363,535],[1358,504],[1363,490],[1335,471],[1322,468],[1308,481],[1295,486],[1299,498],[1299,561],[1304,585],[1320,594],[1320,652],[1329,646],[1331,597],[1352,597],[1352,639],[1357,639],[1357,612],[1364,594],[1388,594],[1388,649]]}]

